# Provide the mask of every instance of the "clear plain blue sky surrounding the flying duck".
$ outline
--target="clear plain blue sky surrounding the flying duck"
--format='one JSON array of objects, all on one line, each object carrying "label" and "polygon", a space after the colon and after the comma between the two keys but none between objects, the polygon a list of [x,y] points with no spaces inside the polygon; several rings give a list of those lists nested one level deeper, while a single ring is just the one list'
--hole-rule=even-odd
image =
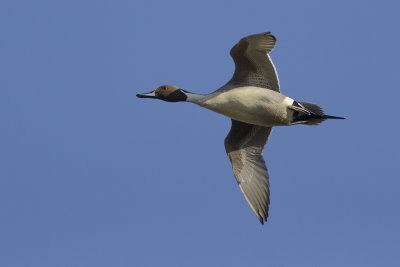
[{"label": "clear plain blue sky surrounding the flying duck", "polygon": [[[0,266],[400,266],[396,1],[0,2]],[[281,91],[345,121],[276,127],[262,226],[230,120],[138,99],[226,83],[271,31]]]}]

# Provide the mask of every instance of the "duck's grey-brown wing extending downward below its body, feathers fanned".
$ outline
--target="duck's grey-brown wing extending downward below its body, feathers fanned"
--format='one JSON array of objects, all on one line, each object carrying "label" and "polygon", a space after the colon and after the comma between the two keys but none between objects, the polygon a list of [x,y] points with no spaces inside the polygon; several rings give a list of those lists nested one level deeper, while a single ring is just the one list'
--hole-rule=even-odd
[{"label": "duck's grey-brown wing extending downward below its body, feathers fanned", "polygon": [[262,152],[271,130],[272,127],[232,120],[225,138],[226,153],[236,181],[262,224],[267,221],[269,206],[269,176]]}]

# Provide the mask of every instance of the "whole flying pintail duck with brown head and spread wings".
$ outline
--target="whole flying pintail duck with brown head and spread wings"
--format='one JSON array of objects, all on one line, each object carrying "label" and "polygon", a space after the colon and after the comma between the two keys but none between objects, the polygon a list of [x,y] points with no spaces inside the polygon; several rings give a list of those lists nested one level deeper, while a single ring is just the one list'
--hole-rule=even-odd
[{"label": "whole flying pintail duck with brown head and spread wings", "polygon": [[272,127],[318,125],[326,119],[344,119],[325,115],[316,104],[295,101],[280,93],[278,75],[269,56],[275,43],[270,32],[241,39],[230,52],[235,61],[232,79],[213,93],[200,95],[163,85],[136,95],[192,102],[232,119],[225,138],[226,153],[244,197],[262,224],[267,221],[270,202],[269,176],[262,152]]}]

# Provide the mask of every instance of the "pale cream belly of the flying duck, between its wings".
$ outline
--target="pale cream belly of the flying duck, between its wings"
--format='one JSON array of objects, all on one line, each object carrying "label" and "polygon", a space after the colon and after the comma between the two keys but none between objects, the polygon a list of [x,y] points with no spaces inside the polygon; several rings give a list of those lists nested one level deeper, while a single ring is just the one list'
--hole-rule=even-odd
[{"label": "pale cream belly of the flying duck, between its wings", "polygon": [[204,102],[204,107],[232,119],[262,125],[288,125],[287,107],[293,99],[278,92],[254,87],[233,89]]}]

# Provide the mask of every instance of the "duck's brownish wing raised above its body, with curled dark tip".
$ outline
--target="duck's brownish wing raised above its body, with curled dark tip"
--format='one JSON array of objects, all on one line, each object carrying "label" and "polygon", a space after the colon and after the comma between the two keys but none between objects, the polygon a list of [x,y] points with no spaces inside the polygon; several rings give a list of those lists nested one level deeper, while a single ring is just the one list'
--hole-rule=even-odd
[{"label": "duck's brownish wing raised above its body, with curled dark tip", "polygon": [[235,73],[228,84],[258,86],[279,92],[278,74],[269,52],[276,43],[270,32],[241,39],[232,49]]}]

